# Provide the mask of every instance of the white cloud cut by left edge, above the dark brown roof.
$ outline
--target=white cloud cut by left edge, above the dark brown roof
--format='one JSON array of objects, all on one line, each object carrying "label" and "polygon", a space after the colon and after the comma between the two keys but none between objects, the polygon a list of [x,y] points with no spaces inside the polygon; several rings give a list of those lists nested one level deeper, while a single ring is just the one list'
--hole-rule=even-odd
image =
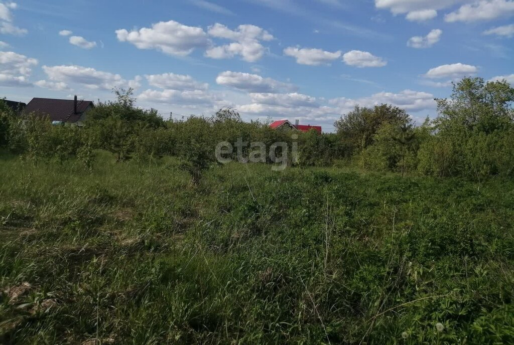
[{"label": "white cloud cut by left edge, above the dark brown roof", "polygon": [[0,51],[0,85],[30,86],[28,76],[38,60],[12,51]]}]

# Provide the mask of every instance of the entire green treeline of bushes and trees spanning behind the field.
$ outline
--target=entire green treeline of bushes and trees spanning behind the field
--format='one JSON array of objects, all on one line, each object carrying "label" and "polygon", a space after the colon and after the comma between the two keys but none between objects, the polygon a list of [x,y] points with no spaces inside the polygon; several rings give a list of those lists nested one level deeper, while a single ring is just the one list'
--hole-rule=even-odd
[{"label": "entire green treeline of bushes and trees spanning behind the field", "polygon": [[[115,102],[99,103],[87,114],[83,128],[53,126],[48,119],[20,116],[0,102],[0,147],[34,164],[77,157],[93,168],[95,151],[108,150],[117,161],[152,162],[163,156],[181,159],[197,181],[216,164],[220,142],[260,142],[298,147],[289,164],[329,166],[335,160],[376,171],[438,177],[482,179],[514,173],[514,89],[505,81],[465,78],[449,99],[438,99],[438,116],[417,126],[409,114],[383,104],[355,109],[336,121],[335,133],[274,130],[268,122],[244,122],[234,109],[212,117],[164,120],[157,110],[135,106],[132,90],[115,90]],[[241,139],[240,139],[241,138]],[[252,148],[242,148],[248,156]],[[283,150],[283,148],[280,148]],[[276,153],[276,152],[273,152]],[[278,152],[278,155],[288,152]],[[238,152],[231,154],[237,160]],[[272,163],[266,151],[263,162]]]}]

